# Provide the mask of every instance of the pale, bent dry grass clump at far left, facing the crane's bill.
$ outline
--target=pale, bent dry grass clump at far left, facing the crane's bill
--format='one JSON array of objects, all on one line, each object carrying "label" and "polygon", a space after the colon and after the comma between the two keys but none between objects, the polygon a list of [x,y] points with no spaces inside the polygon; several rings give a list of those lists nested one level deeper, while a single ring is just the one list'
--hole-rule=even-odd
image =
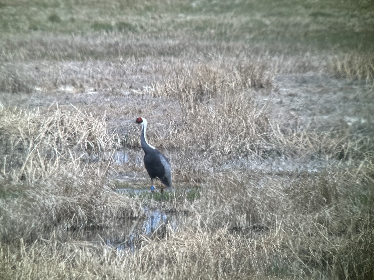
[{"label": "pale, bent dry grass clump at far left, facing the crane's bill", "polygon": [[[116,135],[108,136],[105,124],[76,108],[64,111],[52,105],[46,113],[4,109],[1,112],[3,170],[12,170],[10,181],[32,184],[45,181],[60,169],[62,159],[72,159],[80,150],[107,150],[119,145]],[[19,156],[23,162],[18,162]],[[9,158],[8,158],[9,157]],[[14,161],[14,164],[13,164]],[[14,175],[14,176],[13,176]]]}]

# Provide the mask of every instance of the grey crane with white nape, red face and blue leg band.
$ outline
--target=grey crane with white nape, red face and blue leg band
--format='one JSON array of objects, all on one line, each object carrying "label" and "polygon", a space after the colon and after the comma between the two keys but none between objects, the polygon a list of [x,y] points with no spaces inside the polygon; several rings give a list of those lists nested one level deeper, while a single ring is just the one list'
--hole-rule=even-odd
[{"label": "grey crane with white nape, red face and blue leg band", "polygon": [[[151,192],[154,190],[153,179],[158,178],[168,189],[172,189],[171,186],[171,169],[169,160],[159,152],[155,147],[148,144],[145,132],[147,131],[147,120],[145,118],[137,118],[134,121],[125,122],[136,122],[141,124],[141,135],[140,143],[144,150],[144,166],[147,169],[149,177],[151,177]],[[163,188],[161,188],[163,193]]]}]

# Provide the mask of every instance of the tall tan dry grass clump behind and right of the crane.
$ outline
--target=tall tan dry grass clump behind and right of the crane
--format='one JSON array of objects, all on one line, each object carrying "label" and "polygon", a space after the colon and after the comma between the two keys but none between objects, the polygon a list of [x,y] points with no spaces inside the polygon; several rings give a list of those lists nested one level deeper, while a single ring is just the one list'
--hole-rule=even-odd
[{"label": "tall tan dry grass clump behind and right of the crane", "polygon": [[266,105],[257,108],[249,89],[271,85],[272,74],[265,69],[256,65],[228,75],[231,71],[198,65],[191,72],[176,71],[164,86],[155,85],[155,96],[175,97],[180,105],[182,122],[171,131],[174,145],[217,155],[261,149],[259,142],[269,137]]}]

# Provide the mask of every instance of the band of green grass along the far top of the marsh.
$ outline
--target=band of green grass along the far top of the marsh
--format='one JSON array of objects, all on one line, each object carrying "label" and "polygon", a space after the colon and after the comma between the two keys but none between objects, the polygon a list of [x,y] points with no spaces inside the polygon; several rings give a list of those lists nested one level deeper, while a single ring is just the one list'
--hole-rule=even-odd
[{"label": "band of green grass along the far top of the marsh", "polygon": [[[278,47],[289,44],[299,51],[309,46],[318,50],[352,50],[372,48],[372,16],[367,5],[356,6],[353,1],[344,5],[338,1],[315,4],[296,0],[261,4],[254,0],[222,3],[159,0],[152,5],[146,1],[124,5],[119,0],[95,1],[94,5],[89,1],[74,4],[15,1],[3,2],[0,31],[8,37],[29,31],[70,34],[117,29],[155,37],[193,35],[205,40],[264,41],[269,49],[274,44]],[[74,20],[63,21],[64,18]]]}]

